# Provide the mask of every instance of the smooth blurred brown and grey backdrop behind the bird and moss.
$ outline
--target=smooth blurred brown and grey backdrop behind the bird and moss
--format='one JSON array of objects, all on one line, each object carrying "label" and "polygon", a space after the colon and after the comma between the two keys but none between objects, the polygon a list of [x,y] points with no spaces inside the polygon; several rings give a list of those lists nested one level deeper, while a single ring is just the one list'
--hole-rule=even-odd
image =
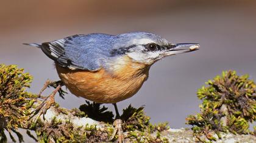
[{"label": "smooth blurred brown and grey backdrop behind the bird and moss", "polygon": [[[196,91],[205,81],[229,69],[256,81],[255,14],[255,1],[1,1],[0,63],[25,68],[34,76],[29,91],[38,93],[46,79],[59,77],[51,59],[24,42],[144,31],[175,43],[199,43],[199,51],[154,64],[137,95],[118,103],[119,110],[129,104],[146,105],[153,123],[188,127],[185,118],[199,111]],[[85,103],[71,94],[55,100],[66,108]]]}]

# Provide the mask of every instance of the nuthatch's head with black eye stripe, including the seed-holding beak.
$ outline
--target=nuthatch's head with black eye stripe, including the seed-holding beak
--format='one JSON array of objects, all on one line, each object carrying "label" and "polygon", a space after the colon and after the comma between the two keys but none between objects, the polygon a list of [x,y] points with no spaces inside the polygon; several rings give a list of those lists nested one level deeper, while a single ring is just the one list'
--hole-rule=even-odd
[{"label": "nuthatch's head with black eye stripe, including the seed-holding beak", "polygon": [[114,37],[113,54],[129,56],[133,61],[152,65],[154,62],[171,55],[192,52],[199,49],[199,44],[173,44],[161,36],[146,32],[125,33]]}]

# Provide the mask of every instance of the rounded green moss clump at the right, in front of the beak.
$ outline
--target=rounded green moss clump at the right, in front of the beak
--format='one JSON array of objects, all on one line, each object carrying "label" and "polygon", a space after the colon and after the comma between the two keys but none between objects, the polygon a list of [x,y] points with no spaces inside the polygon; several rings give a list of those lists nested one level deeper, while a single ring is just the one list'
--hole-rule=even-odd
[{"label": "rounded green moss clump at the right, in front of the beak", "polygon": [[235,71],[223,71],[222,76],[209,80],[208,86],[197,91],[202,100],[201,113],[187,118],[194,133],[204,134],[210,140],[215,140],[213,133],[221,138],[219,131],[250,133],[249,122],[256,119],[256,85],[248,78]]}]

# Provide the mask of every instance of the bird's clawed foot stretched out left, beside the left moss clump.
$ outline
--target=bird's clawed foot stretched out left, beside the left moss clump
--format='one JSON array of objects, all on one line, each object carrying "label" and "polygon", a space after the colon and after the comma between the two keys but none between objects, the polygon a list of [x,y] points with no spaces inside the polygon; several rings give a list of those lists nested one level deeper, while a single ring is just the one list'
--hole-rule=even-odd
[{"label": "bird's clawed foot stretched out left, beside the left moss clump", "polygon": [[[47,82],[48,82],[48,81],[46,81],[46,83],[47,83]],[[46,84],[44,84],[44,87],[45,87],[45,85],[46,85]],[[43,115],[43,119],[45,119],[45,118],[44,118],[44,115],[46,114],[46,111],[51,107],[51,105],[53,105],[53,104],[55,103],[54,96],[55,96],[55,94],[57,93],[57,91],[60,90],[60,86],[61,86],[61,85],[58,85],[58,86],[55,88],[55,90],[52,91],[51,95],[49,95],[48,97],[43,97],[43,96],[41,96],[41,95],[38,96],[38,98],[44,99],[44,101],[43,101],[40,105],[38,105],[38,107],[37,107],[34,111],[32,111],[32,115],[30,116],[30,119],[33,118],[35,115],[37,115],[37,116],[34,118],[33,122],[36,122],[37,119],[38,119],[41,115]],[[44,87],[43,87],[43,88],[44,88]],[[46,87],[47,87],[47,85],[46,85]],[[41,92],[43,91],[43,88],[42,88],[42,90],[40,91],[40,94],[41,94]],[[45,89],[45,88],[44,88],[44,89]]]}]

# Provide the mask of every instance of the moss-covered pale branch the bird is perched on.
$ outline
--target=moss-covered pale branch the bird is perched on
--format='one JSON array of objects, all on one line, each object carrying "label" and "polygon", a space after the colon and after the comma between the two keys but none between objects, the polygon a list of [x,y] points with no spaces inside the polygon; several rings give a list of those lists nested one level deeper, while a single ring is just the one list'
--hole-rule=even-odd
[{"label": "moss-covered pale branch the bird is perched on", "polygon": [[[221,79],[218,79],[219,83],[226,87],[227,85]],[[216,79],[216,81],[218,80]],[[231,81],[234,80],[232,79]],[[205,87],[208,90],[200,90],[199,98],[205,101],[202,104],[202,107],[204,107],[202,108],[202,114],[190,116],[188,120],[190,124],[194,125],[194,131],[201,133],[202,127],[205,127],[207,130],[216,131],[219,136],[226,136],[226,139],[233,138],[233,135],[223,135],[221,131],[226,131],[227,128],[219,124],[219,119],[222,119],[223,116],[232,115],[229,116],[232,118],[229,118],[227,122],[227,125],[233,125],[229,130],[236,131],[236,133],[248,133],[246,122],[255,120],[255,90],[252,90],[254,83],[247,81],[246,77],[241,78],[240,81],[244,84],[240,85],[241,82],[239,84],[232,84],[233,82],[230,82],[229,85],[232,85],[233,88],[223,88],[220,86],[218,90],[216,89],[218,92],[222,90],[237,92],[237,97],[235,96],[235,99],[238,100],[237,104],[233,103],[233,98],[226,95],[222,95],[221,97],[227,98],[227,100],[219,104],[217,101],[222,98],[219,98],[219,96],[216,98],[210,95],[210,93],[215,93],[214,88],[216,85],[211,84],[213,88],[208,89]],[[102,107],[101,104],[87,101],[84,105],[80,106],[80,110],[68,110],[55,104],[46,111],[45,119],[43,116],[40,116],[38,119],[35,119],[37,116],[30,118],[31,113],[42,102],[40,96],[26,91],[26,88],[29,87],[31,82],[32,76],[24,73],[22,68],[17,68],[16,65],[0,64],[0,142],[7,142],[7,136],[13,142],[16,142],[13,135],[18,137],[19,142],[24,142],[23,135],[17,131],[17,128],[26,129],[27,135],[37,142],[108,141],[114,130],[112,125],[114,121],[113,113],[112,111],[107,111],[107,108]],[[215,82],[212,83],[215,84]],[[52,84],[51,86],[57,87],[58,84]],[[207,91],[212,92],[208,94]],[[63,93],[65,91],[60,91],[62,97]],[[241,96],[238,96],[238,93],[241,93]],[[243,98],[244,96],[246,98]],[[216,101],[212,102],[212,99]],[[247,104],[248,101],[250,104]],[[226,105],[228,113],[232,112],[232,114],[227,114],[223,105]],[[229,105],[232,106],[229,107]],[[235,108],[236,106],[239,108]],[[243,110],[240,110],[242,107]],[[211,108],[212,110],[210,110]],[[102,116],[105,118],[102,118]],[[150,118],[144,114],[144,107],[134,108],[129,105],[129,107],[123,110],[121,119],[124,121],[123,130],[126,142],[196,141],[191,130],[170,129],[167,127],[167,123],[152,125],[149,121]],[[241,124],[243,124],[242,127],[244,128],[240,128],[237,131],[236,128],[241,127]],[[205,128],[203,131],[205,131]],[[9,135],[5,135],[6,131]],[[30,131],[35,131],[36,136]],[[207,138],[211,138],[211,136],[208,135]],[[241,136],[239,141],[243,142],[248,138],[256,139],[254,136]],[[117,136],[112,141],[116,141],[116,139]]]}]

